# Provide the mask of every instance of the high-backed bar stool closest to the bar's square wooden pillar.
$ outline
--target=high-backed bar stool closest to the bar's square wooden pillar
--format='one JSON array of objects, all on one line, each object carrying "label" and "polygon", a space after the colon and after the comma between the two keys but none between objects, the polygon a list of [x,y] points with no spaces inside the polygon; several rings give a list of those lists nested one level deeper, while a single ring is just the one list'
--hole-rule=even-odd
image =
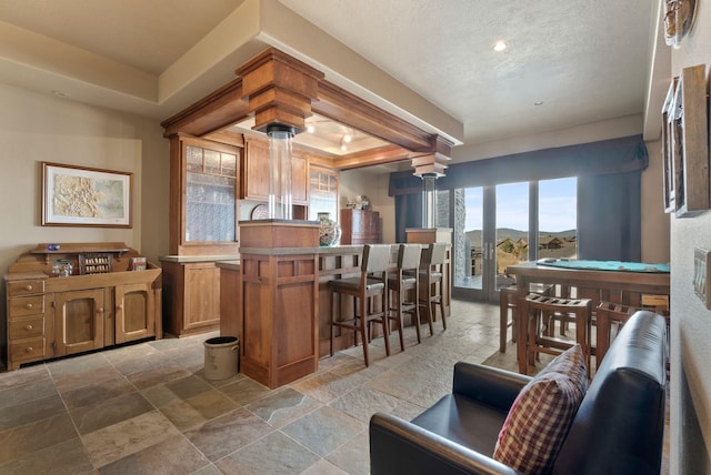
[{"label": "high-backed bar stool closest to the bar's square wooden pillar", "polygon": [[[365,244],[361,260],[360,277],[336,279],[327,286],[330,290],[331,305],[331,356],[333,356],[333,331],[336,327],[348,329],[356,332],[356,344],[360,333],[363,345],[363,360],[365,366],[368,360],[368,342],[370,341],[370,322],[380,323],[383,326],[383,337],[385,340],[385,354],[390,356],[390,342],[388,338],[388,279],[387,270],[390,263],[390,244]],[[337,320],[341,315],[340,295],[353,296],[353,315],[346,320]],[[372,297],[382,295],[382,309],[375,311],[375,305],[371,305]],[[336,312],[338,301],[339,312]],[[400,332],[402,340],[402,331]]]}]

